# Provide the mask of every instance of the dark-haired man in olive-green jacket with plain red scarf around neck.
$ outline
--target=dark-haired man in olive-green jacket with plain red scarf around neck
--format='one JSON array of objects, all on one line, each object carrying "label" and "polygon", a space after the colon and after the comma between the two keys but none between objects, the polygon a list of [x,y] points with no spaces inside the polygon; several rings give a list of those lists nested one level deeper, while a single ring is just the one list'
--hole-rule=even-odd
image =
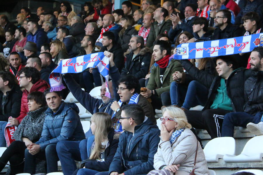
[{"label": "dark-haired man in olive-green jacket with plain red scarf around neck", "polygon": [[154,109],[161,109],[163,105],[171,104],[170,85],[173,82],[172,74],[175,71],[183,72],[178,60],[170,59],[171,45],[167,41],[159,40],[153,47],[155,63],[151,67],[151,75],[146,86],[147,91],[141,92],[146,98],[151,98]]}]

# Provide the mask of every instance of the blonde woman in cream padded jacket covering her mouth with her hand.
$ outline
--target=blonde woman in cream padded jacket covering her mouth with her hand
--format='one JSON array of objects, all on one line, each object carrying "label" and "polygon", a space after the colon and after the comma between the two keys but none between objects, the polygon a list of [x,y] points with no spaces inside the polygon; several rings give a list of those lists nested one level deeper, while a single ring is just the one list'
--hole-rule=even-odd
[{"label": "blonde woman in cream padded jacket covering her mouth with her hand", "polygon": [[148,175],[189,175],[192,171],[196,175],[208,175],[205,154],[190,130],[184,111],[168,106],[162,109],[162,114],[161,140],[153,160],[155,170]]}]

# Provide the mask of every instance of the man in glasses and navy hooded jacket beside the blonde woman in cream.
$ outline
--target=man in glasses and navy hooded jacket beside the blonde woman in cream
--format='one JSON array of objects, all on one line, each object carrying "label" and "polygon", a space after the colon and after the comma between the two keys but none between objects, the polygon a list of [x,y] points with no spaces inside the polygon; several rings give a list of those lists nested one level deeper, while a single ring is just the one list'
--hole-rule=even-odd
[{"label": "man in glasses and navy hooded jacket beside the blonde woman in cream", "polygon": [[145,116],[143,108],[138,104],[123,106],[120,122],[125,131],[120,135],[109,171],[98,174],[147,174],[154,169],[153,157],[160,141],[160,130]]}]

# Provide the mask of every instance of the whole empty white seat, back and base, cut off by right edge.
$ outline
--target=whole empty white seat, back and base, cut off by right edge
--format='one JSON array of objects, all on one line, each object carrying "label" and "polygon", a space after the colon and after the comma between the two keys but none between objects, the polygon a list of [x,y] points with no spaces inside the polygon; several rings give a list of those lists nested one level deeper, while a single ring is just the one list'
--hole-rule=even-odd
[{"label": "whole empty white seat, back and base, cut off by right edge", "polygon": [[224,155],[225,162],[261,162],[263,157],[263,135],[250,139],[240,155]]}]

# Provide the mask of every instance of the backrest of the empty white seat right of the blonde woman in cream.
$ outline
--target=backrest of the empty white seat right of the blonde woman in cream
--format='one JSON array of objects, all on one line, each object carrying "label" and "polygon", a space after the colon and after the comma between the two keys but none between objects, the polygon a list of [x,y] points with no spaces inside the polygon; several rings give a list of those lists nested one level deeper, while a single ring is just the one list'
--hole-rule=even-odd
[{"label": "backrest of the empty white seat right of the blonde woman in cream", "polygon": [[217,137],[210,140],[204,148],[205,157],[211,157],[216,154],[235,155],[236,142],[233,137]]}]

